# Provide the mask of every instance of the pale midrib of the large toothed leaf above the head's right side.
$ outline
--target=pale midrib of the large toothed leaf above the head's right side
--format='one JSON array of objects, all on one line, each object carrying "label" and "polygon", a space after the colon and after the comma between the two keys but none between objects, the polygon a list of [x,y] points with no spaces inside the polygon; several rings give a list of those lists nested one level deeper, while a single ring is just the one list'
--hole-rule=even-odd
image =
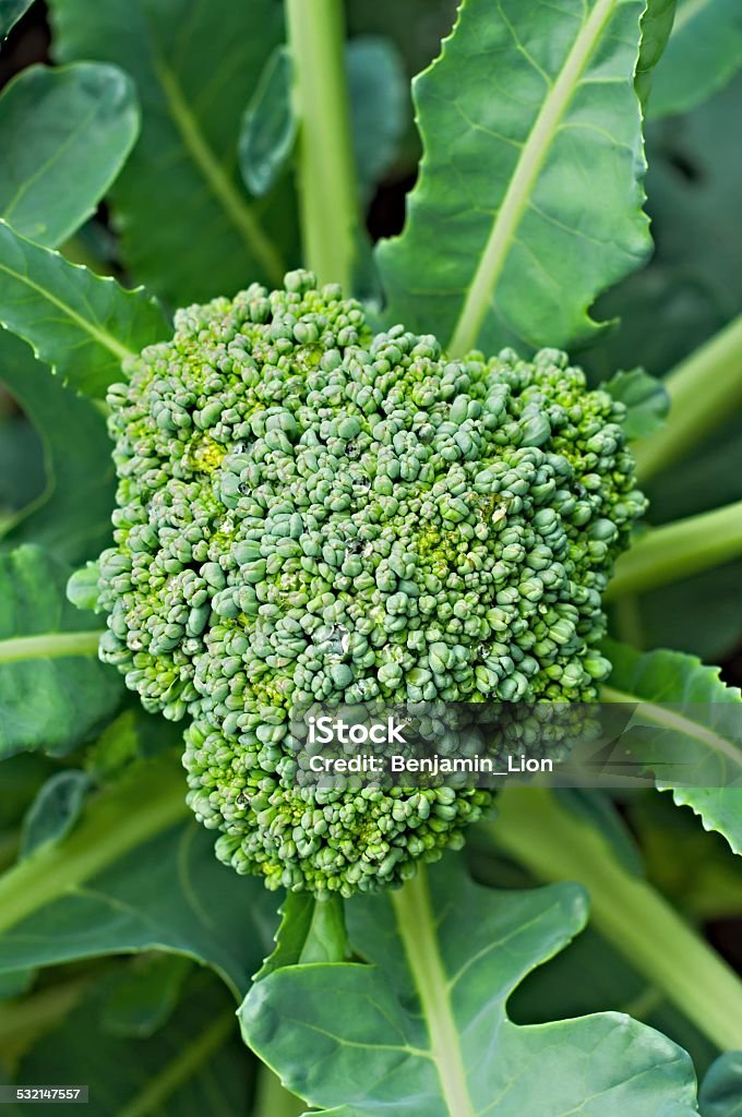
[{"label": "pale midrib of the large toothed leaf above the head's right side", "polygon": [[598,0],[582,25],[559,77],[544,98],[539,115],[523,145],[503,202],[493,221],[484,252],[466,290],[464,305],[448,346],[453,356],[463,356],[476,345],[489,308],[495,285],[505,267],[515,233],[529,207],[534,184],[554,142],[584,68],[617,0]]}]

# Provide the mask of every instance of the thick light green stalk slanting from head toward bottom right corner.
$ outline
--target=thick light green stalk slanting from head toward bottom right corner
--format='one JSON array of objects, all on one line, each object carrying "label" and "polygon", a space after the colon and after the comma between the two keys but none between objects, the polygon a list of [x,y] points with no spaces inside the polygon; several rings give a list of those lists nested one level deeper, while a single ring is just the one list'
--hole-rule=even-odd
[{"label": "thick light green stalk slanting from head toward bottom right corner", "polygon": [[584,885],[603,937],[719,1048],[742,1048],[742,982],[606,838],[543,787],[507,790],[497,803],[485,828],[493,841],[542,880]]}]

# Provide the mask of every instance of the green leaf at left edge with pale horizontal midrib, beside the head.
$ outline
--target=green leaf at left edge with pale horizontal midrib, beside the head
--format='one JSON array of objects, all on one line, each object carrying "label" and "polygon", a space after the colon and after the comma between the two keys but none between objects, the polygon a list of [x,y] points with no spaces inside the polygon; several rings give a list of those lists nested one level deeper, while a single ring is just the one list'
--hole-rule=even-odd
[{"label": "green leaf at left edge with pale horizontal midrib, beside the head", "polygon": [[121,678],[97,658],[95,618],[65,596],[68,575],[40,547],[0,554],[0,757],[64,754],[121,701]]}]

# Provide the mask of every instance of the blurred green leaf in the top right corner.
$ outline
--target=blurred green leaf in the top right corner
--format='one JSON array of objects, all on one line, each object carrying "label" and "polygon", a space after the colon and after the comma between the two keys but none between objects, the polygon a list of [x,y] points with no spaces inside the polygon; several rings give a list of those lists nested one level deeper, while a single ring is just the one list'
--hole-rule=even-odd
[{"label": "blurred green leaf in the top right corner", "polygon": [[701,105],[742,67],[739,0],[678,0],[675,26],[653,79],[650,116]]}]

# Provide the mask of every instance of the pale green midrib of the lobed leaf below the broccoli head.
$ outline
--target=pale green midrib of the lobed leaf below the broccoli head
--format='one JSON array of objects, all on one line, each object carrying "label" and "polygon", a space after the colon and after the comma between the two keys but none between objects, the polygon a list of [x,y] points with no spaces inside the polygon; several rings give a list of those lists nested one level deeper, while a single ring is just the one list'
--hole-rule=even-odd
[{"label": "pale green midrib of the lobed leaf below the broccoli head", "polygon": [[436,919],[425,868],[421,867],[403,888],[390,895],[430,1035],[432,1059],[446,1106],[451,1117],[475,1117],[466,1083],[460,1037],[436,937]]}]

